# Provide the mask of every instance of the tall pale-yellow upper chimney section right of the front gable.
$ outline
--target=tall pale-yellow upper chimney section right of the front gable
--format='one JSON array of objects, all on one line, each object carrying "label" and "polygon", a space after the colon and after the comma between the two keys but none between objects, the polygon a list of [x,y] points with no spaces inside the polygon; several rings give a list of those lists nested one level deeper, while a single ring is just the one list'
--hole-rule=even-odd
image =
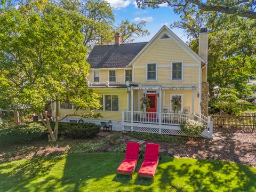
[{"label": "tall pale-yellow upper chimney section right of the front gable", "polygon": [[198,54],[207,62],[208,59],[208,36],[207,28],[201,28],[199,33]]}]

